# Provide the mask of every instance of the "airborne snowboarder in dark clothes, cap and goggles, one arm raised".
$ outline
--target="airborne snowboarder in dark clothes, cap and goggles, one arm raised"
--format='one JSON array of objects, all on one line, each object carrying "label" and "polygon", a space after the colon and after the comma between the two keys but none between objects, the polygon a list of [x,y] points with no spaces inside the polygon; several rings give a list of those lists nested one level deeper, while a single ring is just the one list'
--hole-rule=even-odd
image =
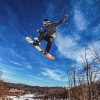
[{"label": "airborne snowboarder in dark clothes, cap and goggles, one arm raised", "polygon": [[57,23],[51,23],[48,19],[44,19],[44,30],[41,32],[39,29],[37,29],[39,37],[35,40],[34,45],[39,46],[42,40],[47,41],[48,43],[45,49],[45,53],[49,53],[52,43],[56,37],[56,28],[61,25],[66,18],[68,18],[67,14],[64,15],[64,17]]}]

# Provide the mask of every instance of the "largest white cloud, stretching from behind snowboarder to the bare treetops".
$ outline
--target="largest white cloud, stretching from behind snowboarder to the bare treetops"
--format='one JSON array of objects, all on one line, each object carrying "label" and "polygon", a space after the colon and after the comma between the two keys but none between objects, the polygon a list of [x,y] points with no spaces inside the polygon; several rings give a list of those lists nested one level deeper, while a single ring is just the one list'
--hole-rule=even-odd
[{"label": "largest white cloud, stretching from behind snowboarder to the bare treetops", "polygon": [[[87,47],[81,47],[77,40],[73,37],[63,36],[58,32],[55,44],[58,48],[59,55],[62,55],[71,60],[75,60],[77,63],[83,63],[81,54],[83,56],[85,55],[85,49],[88,60],[91,61],[94,58],[93,54],[90,51],[91,44],[89,44]],[[95,48],[100,52],[99,44],[100,41],[94,42]]]}]

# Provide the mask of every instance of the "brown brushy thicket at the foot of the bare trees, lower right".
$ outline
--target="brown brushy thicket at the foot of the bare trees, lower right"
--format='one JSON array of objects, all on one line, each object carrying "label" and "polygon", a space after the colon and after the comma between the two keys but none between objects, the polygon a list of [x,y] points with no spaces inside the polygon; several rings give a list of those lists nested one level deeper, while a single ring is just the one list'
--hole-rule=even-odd
[{"label": "brown brushy thicket at the foot of the bare trees, lower right", "polygon": [[100,100],[100,81],[91,83],[91,91],[87,84],[70,88],[68,98],[69,100]]}]

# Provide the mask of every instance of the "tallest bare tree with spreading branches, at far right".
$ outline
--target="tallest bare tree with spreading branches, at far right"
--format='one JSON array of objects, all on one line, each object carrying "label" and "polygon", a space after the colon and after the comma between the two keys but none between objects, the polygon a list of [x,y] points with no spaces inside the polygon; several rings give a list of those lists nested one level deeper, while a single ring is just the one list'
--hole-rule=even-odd
[{"label": "tallest bare tree with spreading branches, at far right", "polygon": [[[84,67],[84,73],[85,73],[85,77],[86,77],[86,92],[87,92],[87,100],[93,100],[94,94],[94,88],[95,88],[95,79],[96,79],[96,75],[98,72],[98,67],[96,67],[96,64],[99,63],[97,62],[100,60],[100,56],[97,52],[97,50],[95,49],[95,46],[92,44],[92,48],[89,49],[91,52],[91,55],[93,55],[93,59],[91,61],[89,61],[88,57],[87,57],[87,52],[85,49],[85,54],[84,56],[81,55],[82,59],[83,59],[83,67]],[[98,64],[97,64],[98,66]]]}]

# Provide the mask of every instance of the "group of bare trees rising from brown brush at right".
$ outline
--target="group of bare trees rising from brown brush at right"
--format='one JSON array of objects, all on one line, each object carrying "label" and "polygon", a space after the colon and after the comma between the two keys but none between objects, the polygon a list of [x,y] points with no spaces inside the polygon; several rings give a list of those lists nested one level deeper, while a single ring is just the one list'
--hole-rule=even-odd
[{"label": "group of bare trees rising from brown brush at right", "polygon": [[80,56],[83,63],[73,66],[67,73],[68,98],[100,100],[100,49],[91,44]]}]

